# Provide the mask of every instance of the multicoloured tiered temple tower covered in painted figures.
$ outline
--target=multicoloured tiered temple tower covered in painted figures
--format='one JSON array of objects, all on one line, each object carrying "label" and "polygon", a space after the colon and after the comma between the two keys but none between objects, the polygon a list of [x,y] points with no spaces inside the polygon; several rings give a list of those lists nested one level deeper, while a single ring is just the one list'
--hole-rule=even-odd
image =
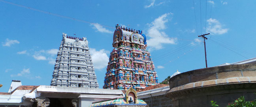
[{"label": "multicoloured tiered temple tower covered in painted figures", "polygon": [[141,90],[158,84],[146,40],[142,31],[116,25],[104,89]]}]

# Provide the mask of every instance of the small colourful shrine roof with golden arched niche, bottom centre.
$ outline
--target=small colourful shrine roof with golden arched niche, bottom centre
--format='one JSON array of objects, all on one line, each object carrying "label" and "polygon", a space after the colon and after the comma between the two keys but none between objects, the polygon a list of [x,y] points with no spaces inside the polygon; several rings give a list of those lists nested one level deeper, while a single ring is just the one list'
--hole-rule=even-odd
[{"label": "small colourful shrine roof with golden arched niche, bottom centre", "polygon": [[126,91],[124,98],[93,102],[90,107],[148,107],[148,105],[137,98],[136,90],[130,88]]}]

